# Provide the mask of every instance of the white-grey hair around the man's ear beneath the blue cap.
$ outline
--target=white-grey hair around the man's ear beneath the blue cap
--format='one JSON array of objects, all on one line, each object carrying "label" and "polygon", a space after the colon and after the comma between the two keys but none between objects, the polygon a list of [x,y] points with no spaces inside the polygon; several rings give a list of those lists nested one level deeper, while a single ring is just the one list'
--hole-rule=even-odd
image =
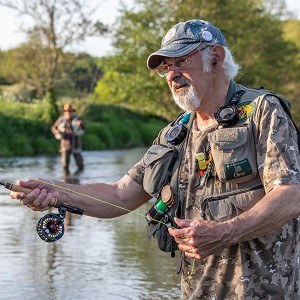
[{"label": "white-grey hair around the man's ear beneath the blue cap", "polygon": [[[223,46],[222,46],[223,47]],[[223,47],[225,50],[225,59],[223,63],[223,69],[225,75],[228,79],[234,79],[237,74],[239,73],[240,66],[237,64],[230,50],[227,47]],[[203,70],[206,73],[211,72],[212,70],[212,63],[213,63],[213,55],[211,47],[208,47],[202,51],[202,61],[203,61]]]}]

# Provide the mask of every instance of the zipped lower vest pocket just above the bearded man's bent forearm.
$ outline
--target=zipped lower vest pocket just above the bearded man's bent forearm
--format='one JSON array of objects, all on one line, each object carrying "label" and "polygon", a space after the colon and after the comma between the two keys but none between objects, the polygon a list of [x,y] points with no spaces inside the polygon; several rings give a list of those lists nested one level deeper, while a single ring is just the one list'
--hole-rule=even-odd
[{"label": "zipped lower vest pocket just above the bearded man's bent forearm", "polygon": [[213,195],[202,202],[203,218],[209,221],[227,221],[249,210],[262,197],[265,191],[263,185],[237,191]]}]

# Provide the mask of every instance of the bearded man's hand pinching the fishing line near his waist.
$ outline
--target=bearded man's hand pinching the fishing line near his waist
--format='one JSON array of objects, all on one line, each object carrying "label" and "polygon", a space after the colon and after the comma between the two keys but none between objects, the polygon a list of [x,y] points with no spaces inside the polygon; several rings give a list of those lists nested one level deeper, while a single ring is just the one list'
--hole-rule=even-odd
[{"label": "bearded man's hand pinching the fishing line near his waist", "polygon": [[226,222],[178,218],[174,218],[174,221],[180,229],[169,228],[169,233],[187,257],[202,259],[233,244]]}]

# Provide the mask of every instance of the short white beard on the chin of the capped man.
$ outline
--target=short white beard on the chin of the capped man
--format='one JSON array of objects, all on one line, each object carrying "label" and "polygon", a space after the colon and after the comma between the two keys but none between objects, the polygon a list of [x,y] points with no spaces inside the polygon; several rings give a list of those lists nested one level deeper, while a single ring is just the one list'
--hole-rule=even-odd
[{"label": "short white beard on the chin of the capped man", "polygon": [[172,89],[172,95],[175,103],[184,111],[197,111],[201,104],[201,99],[197,95],[194,87],[188,83],[187,91],[175,91]]}]

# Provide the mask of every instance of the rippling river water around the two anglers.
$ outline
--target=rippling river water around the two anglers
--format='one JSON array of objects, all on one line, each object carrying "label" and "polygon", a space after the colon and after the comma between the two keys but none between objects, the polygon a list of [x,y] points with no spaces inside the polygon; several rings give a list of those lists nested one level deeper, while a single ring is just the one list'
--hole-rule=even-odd
[{"label": "rippling river water around the two anglers", "polygon": [[[145,149],[84,152],[85,171],[69,177],[73,183],[113,182]],[[0,159],[0,181],[61,176],[58,156]],[[72,160],[71,169],[75,171]],[[139,214],[102,220],[72,215],[64,236],[43,242],[36,223],[47,212],[21,206],[0,187],[0,299],[5,300],[163,300],[180,298],[176,258],[159,251],[146,237]],[[53,213],[57,211],[52,211]]]}]

